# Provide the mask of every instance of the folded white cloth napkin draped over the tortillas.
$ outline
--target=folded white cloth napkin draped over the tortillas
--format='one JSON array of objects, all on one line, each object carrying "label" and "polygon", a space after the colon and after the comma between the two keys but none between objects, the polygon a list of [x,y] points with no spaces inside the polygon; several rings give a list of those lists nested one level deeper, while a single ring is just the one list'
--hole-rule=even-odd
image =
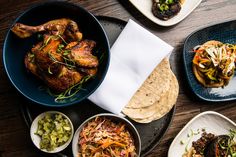
[{"label": "folded white cloth napkin draped over the tortillas", "polygon": [[110,66],[93,103],[120,114],[142,83],[173,47],[129,20],[111,48]]}]

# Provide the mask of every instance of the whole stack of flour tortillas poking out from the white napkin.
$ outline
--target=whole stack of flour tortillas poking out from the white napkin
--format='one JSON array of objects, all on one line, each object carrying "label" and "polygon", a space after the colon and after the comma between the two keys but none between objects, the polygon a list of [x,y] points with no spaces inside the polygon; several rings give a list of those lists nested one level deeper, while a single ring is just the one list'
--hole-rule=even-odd
[{"label": "whole stack of flour tortillas poking out from the white napkin", "polygon": [[170,69],[168,58],[164,58],[122,112],[136,122],[152,122],[172,109],[178,93],[178,81]]}]

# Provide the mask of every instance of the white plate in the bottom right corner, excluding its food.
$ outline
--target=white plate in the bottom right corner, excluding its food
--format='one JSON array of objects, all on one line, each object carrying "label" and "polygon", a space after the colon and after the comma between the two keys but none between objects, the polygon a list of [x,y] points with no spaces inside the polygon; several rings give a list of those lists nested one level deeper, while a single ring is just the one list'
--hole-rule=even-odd
[{"label": "white plate in the bottom right corner, excluding its food", "polygon": [[[230,129],[236,129],[236,124],[229,118],[213,111],[203,112],[194,117],[185,127],[179,132],[170,145],[168,151],[168,157],[181,157],[185,152],[186,144],[189,140],[188,149],[191,147],[193,141],[196,141],[201,137],[201,133],[194,135],[192,138],[188,138],[187,135],[191,131],[197,131],[204,128],[207,133],[213,133],[215,135],[229,134]],[[181,141],[185,141],[185,144],[181,144]]]}]

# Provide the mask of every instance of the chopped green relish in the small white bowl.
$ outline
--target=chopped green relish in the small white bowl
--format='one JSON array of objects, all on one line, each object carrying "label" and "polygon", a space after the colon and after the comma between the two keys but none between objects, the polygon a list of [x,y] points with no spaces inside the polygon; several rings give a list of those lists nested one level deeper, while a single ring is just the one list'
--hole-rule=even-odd
[{"label": "chopped green relish in the small white bowl", "polygon": [[72,128],[70,122],[61,114],[47,114],[38,121],[35,134],[41,138],[40,149],[53,151],[70,139]]}]

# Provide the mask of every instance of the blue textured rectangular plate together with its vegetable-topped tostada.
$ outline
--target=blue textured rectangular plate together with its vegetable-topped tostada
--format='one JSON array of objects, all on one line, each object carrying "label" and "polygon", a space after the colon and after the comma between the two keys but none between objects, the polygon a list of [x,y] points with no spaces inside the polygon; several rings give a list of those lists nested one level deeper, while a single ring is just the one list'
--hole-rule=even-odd
[{"label": "blue textured rectangular plate together with its vegetable-topped tostada", "polygon": [[207,101],[236,99],[236,21],[190,34],[183,50],[186,77],[196,96]]}]

